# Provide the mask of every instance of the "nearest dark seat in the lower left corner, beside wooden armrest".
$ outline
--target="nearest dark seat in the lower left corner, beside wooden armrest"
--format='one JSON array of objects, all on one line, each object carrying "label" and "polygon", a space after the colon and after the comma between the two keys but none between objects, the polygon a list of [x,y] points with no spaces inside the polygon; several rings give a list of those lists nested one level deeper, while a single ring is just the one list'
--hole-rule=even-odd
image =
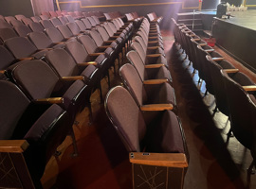
[{"label": "nearest dark seat in the lower left corner, beside wooden armrest", "polygon": [[6,151],[9,153],[13,153],[11,149],[15,147],[12,140],[26,140],[24,144],[28,145],[24,147],[23,157],[34,186],[41,188],[46,163],[71,128],[70,118],[56,104],[36,105],[9,81],[0,80],[0,88],[0,139],[9,146]]}]

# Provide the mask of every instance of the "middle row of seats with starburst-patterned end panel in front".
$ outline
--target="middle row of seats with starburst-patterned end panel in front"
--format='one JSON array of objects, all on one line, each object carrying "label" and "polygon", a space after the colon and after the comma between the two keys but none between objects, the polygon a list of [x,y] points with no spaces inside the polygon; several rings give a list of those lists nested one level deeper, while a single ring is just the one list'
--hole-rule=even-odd
[{"label": "middle row of seats with starburst-patterned end panel in front", "polygon": [[[182,188],[189,154],[175,114],[174,88],[159,26],[143,19],[131,47],[127,53],[130,63],[119,69],[126,89],[117,86],[109,91],[106,113],[130,152],[134,188],[140,187],[140,169],[150,174],[148,165],[155,172],[159,166],[167,167],[166,175],[157,182],[166,183],[167,188]],[[170,181],[168,175],[175,175],[176,181]]]}]

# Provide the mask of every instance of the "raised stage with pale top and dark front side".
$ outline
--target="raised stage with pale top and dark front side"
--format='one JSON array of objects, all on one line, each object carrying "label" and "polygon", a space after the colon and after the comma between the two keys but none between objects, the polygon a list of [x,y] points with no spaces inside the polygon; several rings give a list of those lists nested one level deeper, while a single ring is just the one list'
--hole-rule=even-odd
[{"label": "raised stage with pale top and dark front side", "polygon": [[230,56],[256,73],[256,10],[233,11],[229,19],[214,18],[216,43]]}]

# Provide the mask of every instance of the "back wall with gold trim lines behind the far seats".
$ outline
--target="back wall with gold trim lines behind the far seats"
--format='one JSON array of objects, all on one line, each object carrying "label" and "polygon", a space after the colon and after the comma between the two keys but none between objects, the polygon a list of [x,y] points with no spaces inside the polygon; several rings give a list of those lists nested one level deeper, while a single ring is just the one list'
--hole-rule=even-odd
[{"label": "back wall with gold trim lines behind the far seats", "polygon": [[60,9],[81,11],[120,11],[122,14],[137,11],[141,16],[155,11],[156,15],[163,16],[162,26],[170,26],[172,17],[179,11],[198,9],[198,0],[59,0]]}]

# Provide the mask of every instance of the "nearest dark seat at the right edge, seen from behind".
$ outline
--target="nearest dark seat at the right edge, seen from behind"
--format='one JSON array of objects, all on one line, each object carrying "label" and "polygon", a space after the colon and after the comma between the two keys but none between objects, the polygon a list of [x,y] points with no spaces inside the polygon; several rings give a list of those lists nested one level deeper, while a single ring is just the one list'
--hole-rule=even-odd
[{"label": "nearest dark seat at the right edge, seen from behind", "polygon": [[[256,85],[241,86],[231,79],[225,71],[221,71],[226,86],[226,94],[230,112],[230,130],[236,139],[247,147],[252,155],[255,166],[255,118],[256,104],[253,102],[255,95],[248,94],[248,91],[256,91]],[[252,167],[248,169],[251,173]]]}]

